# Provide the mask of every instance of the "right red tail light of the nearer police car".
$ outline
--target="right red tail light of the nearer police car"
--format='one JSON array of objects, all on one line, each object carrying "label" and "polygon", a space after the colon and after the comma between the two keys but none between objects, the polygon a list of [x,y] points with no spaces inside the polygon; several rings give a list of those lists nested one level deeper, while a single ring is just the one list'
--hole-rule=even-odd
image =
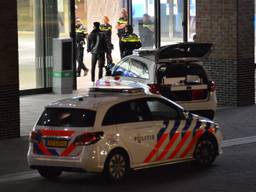
[{"label": "right red tail light of the nearer police car", "polygon": [[87,132],[83,133],[82,135],[78,135],[73,142],[75,146],[82,146],[82,145],[91,145],[97,143],[101,137],[104,135],[104,132]]}]

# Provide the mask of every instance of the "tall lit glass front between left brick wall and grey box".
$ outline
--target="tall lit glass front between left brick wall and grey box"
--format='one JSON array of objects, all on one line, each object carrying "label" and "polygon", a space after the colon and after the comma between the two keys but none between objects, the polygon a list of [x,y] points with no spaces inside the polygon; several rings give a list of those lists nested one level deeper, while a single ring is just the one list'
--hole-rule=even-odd
[{"label": "tall lit glass front between left brick wall and grey box", "polygon": [[19,0],[20,90],[52,87],[52,40],[70,35],[70,0]]}]

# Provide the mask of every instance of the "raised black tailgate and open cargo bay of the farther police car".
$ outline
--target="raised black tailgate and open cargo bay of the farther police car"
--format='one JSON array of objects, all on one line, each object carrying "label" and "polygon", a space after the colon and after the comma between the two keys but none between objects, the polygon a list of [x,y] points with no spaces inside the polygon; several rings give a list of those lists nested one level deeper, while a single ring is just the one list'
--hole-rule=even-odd
[{"label": "raised black tailgate and open cargo bay of the farther police car", "polygon": [[211,47],[209,43],[180,43],[160,48],[156,55],[160,93],[173,101],[208,99],[208,78],[200,60]]}]

